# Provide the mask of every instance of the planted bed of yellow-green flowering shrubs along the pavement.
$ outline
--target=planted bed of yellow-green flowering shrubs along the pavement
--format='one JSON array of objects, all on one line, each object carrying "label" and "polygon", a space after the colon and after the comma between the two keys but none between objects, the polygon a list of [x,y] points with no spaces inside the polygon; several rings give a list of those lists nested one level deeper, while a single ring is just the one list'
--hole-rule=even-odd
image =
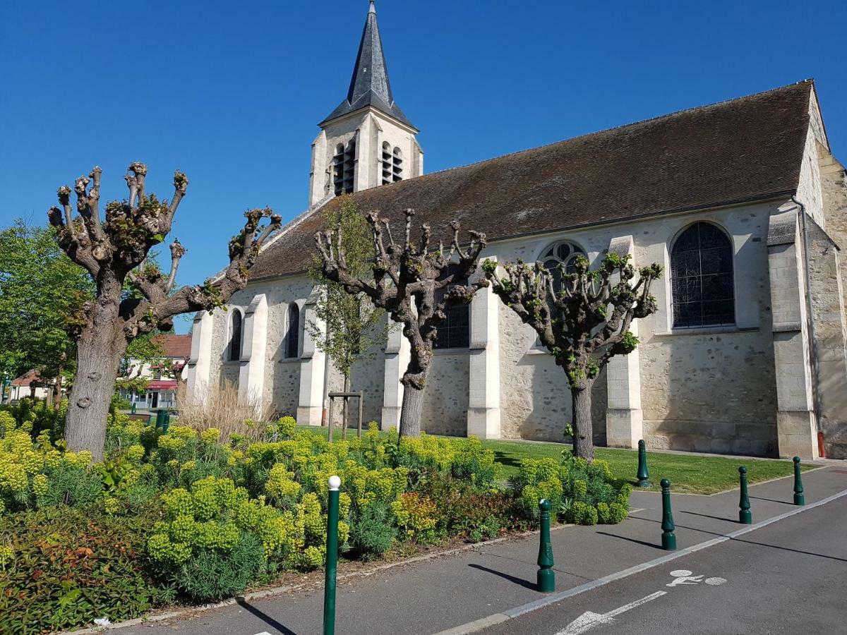
[{"label": "planted bed of yellow-green flowering shrubs along the pavement", "polygon": [[106,460],[91,465],[27,421],[0,411],[0,631],[124,619],[323,566],[333,474],[340,551],[355,560],[532,527],[543,497],[569,522],[626,516],[628,486],[602,461],[524,461],[506,486],[477,439],[398,441],[372,424],[361,440],[329,444],[291,417],[261,441],[220,439],[116,415]]}]

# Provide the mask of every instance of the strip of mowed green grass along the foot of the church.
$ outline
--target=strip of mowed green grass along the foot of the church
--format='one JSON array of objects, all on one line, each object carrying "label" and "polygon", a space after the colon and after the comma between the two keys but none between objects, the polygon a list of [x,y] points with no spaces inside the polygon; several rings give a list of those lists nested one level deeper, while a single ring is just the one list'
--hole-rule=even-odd
[{"label": "strip of mowed green grass along the foot of the church", "polygon": [[[326,428],[310,428],[298,426],[303,430],[323,434]],[[388,433],[380,433],[385,437]],[[347,431],[347,438],[356,436],[355,429]],[[333,430],[333,439],[341,439],[341,431]],[[529,441],[486,440],[483,445],[494,451],[495,460],[503,465],[503,478],[512,478],[518,473],[523,459],[552,458],[561,460],[562,456],[570,456],[571,444],[539,443]],[[564,451],[564,455],[562,455]],[[617,448],[595,448],[595,458],[608,461],[612,474],[628,483],[636,485],[638,479],[638,451],[619,450]],[[647,450],[647,467],[650,471],[650,488],[658,491],[659,482],[667,478],[671,489],[678,493],[714,494],[724,489],[739,486],[739,466],[747,467],[747,480],[750,484],[780,478],[794,473],[794,463],[791,461],[762,461],[743,457],[727,458],[724,456],[698,456],[685,454],[667,454]],[[809,470],[814,466],[802,466]]]}]

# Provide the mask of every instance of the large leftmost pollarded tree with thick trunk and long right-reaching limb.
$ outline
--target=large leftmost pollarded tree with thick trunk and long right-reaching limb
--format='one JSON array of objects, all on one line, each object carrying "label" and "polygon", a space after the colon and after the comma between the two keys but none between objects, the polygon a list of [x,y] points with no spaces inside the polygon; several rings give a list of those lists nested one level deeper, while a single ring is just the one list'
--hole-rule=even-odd
[{"label": "large leftmost pollarded tree with thick trunk and long right-reaching limb", "polygon": [[[175,172],[174,197],[170,202],[159,201],[145,191],[147,166],[132,163],[125,176],[129,197],[109,202],[101,220],[101,174],[102,170],[95,167],[87,177],[76,179],[76,215],[67,185],[58,189],[62,207],[52,207],[47,214],[57,229],[59,246],[86,269],[96,287],[94,301],[87,302],[80,315],[76,378],[65,424],[69,448],[91,450],[96,461],[102,457],[108,405],[130,342],[157,329],[169,331],[174,316],[181,313],[211,311],[224,305],[235,291],[246,286],[259,248],[280,227],[280,217],[269,208],[246,212],[244,228],[230,240],[230,264],[224,272],[205,284],[174,290],[180,259],[185,255],[185,247],[178,240],[170,246],[167,276],[149,263],[140,265],[150,249],[168,235],[188,187],[187,177]],[[270,218],[270,222],[262,226],[263,218]],[[126,281],[139,293],[124,294]]]}]

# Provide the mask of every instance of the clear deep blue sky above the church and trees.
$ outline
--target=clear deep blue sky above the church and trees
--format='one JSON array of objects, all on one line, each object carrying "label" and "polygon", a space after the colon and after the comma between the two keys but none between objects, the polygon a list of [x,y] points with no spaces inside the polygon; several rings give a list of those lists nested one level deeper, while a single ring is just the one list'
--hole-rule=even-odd
[{"label": "clear deep blue sky above the church and trees", "polygon": [[[306,207],[310,144],[346,94],[367,0],[8,2],[0,8],[0,225],[46,222],[94,164],[169,197],[180,281],[226,262],[247,207]],[[807,77],[847,157],[847,3],[379,0],[427,172]]]}]

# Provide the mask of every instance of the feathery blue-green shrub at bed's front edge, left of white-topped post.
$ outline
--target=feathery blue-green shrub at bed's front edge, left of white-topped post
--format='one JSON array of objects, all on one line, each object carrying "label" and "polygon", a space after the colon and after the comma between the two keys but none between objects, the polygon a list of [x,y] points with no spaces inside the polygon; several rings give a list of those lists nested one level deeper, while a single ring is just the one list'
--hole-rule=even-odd
[{"label": "feathery blue-green shrub at bed's front edge, left of white-topped post", "polygon": [[203,549],[174,573],[182,593],[201,602],[241,593],[264,563],[262,542],[242,531],[232,549]]}]

